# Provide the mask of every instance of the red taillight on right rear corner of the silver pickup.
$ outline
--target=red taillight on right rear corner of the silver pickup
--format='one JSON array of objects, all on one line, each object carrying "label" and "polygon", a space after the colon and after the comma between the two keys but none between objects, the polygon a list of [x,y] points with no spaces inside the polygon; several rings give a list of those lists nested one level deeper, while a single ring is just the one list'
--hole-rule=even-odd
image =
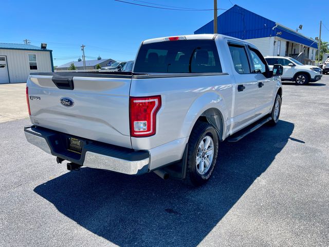
[{"label": "red taillight on right rear corner of the silver pickup", "polygon": [[161,107],[161,96],[130,97],[130,132],[133,137],[155,134],[156,114]]}]

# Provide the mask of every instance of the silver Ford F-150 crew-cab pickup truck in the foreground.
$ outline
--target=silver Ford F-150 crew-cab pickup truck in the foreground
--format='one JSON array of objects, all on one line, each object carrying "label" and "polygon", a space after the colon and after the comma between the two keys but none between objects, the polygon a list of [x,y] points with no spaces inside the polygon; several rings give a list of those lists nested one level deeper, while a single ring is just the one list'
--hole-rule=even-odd
[{"label": "silver Ford F-150 crew-cab pickup truck in the foreground", "polygon": [[133,72],[32,73],[29,143],[81,166],[202,185],[218,143],[236,142],[281,109],[283,67],[220,34],[145,40]]}]

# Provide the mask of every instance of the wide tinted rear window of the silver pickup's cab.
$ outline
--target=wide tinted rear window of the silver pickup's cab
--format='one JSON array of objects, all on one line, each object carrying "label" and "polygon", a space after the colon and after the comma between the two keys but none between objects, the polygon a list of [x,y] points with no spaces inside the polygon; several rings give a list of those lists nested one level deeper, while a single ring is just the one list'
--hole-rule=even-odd
[{"label": "wide tinted rear window of the silver pickup's cab", "polygon": [[135,73],[222,73],[214,40],[178,40],[143,44]]}]

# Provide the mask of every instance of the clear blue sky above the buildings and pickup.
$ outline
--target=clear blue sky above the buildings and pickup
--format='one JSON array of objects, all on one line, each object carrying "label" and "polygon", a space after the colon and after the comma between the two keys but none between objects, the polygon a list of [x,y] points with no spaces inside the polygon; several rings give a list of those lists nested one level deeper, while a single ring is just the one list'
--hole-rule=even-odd
[{"label": "clear blue sky above the buildings and pickup", "polygon": [[[134,0],[127,2],[139,3]],[[141,0],[184,8],[212,9],[213,1]],[[319,23],[329,29],[329,2],[218,0],[218,8],[240,5],[290,28],[303,25],[308,37],[319,36]],[[319,7],[318,7],[319,6]],[[175,11],[139,7],[107,1],[24,1],[2,0],[0,42],[32,45],[47,43],[53,50],[54,65],[82,57],[133,60],[141,41],[150,38],[192,34],[213,19],[212,11]],[[224,12],[218,11],[218,15]],[[322,40],[329,41],[329,30],[322,27]],[[63,59],[67,58],[67,59]]]}]

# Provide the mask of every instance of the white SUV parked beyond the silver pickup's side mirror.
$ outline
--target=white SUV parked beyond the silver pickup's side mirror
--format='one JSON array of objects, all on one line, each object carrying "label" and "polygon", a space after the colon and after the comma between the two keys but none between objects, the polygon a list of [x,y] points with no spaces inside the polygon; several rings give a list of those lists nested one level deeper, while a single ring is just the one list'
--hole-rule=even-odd
[{"label": "white SUV parked beyond the silver pickup's side mirror", "polygon": [[294,58],[289,57],[265,57],[270,68],[273,64],[283,66],[282,80],[295,81],[297,85],[305,85],[308,82],[321,80],[321,68],[313,65],[304,65]]}]

